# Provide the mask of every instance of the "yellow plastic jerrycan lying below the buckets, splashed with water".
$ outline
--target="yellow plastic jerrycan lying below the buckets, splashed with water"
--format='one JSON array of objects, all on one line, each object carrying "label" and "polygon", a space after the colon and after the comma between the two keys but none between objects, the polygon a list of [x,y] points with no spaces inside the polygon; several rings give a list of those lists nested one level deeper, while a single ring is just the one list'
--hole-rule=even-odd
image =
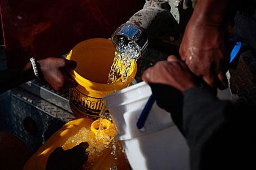
[{"label": "yellow plastic jerrycan lying below the buckets, splashed with water", "polygon": [[[52,135],[27,161],[23,170],[45,170],[47,160],[50,154],[57,148],[62,147],[64,150],[71,149],[78,145],[80,142],[90,143],[91,138],[75,136],[81,129],[93,129],[93,133],[96,133],[99,128],[98,120],[94,121],[91,118],[79,118],[69,121],[54,135]],[[112,125],[108,120],[105,120],[104,127],[106,127],[107,133],[108,128]],[[94,129],[96,128],[96,129]],[[74,143],[70,143],[69,139],[75,140]],[[80,141],[80,142],[79,142]],[[97,141],[95,141],[97,143]],[[89,146],[90,147],[90,146]],[[96,146],[97,147],[97,146]],[[116,148],[115,155],[112,154],[113,149]],[[89,149],[89,148],[88,148]],[[88,151],[88,149],[86,151]],[[129,163],[126,162],[124,153],[122,152],[122,145],[119,141],[116,142],[115,147],[110,143],[108,147],[104,148],[100,155],[90,154],[88,161],[84,164],[84,169],[90,170],[109,170],[111,167],[116,166],[118,169],[129,170]]]}]

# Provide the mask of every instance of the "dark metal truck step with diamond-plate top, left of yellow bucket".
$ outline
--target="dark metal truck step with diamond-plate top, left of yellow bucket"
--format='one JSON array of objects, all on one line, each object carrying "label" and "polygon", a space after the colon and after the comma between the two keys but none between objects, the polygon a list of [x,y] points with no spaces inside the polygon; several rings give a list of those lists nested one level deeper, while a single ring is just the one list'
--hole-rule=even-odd
[{"label": "dark metal truck step with diamond-plate top, left of yellow bucket", "polygon": [[66,122],[75,118],[70,112],[21,88],[12,90],[15,134],[35,152]]}]

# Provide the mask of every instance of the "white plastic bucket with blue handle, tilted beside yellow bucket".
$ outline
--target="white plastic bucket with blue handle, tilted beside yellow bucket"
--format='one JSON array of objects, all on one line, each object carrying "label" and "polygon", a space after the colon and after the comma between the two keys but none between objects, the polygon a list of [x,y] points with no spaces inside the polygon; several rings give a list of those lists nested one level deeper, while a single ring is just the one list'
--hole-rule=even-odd
[{"label": "white plastic bucket with blue handle, tilted beside yellow bucket", "polygon": [[141,82],[104,98],[118,129],[126,156],[134,170],[188,170],[188,146],[170,113],[153,105],[144,128],[136,123],[152,94]]}]

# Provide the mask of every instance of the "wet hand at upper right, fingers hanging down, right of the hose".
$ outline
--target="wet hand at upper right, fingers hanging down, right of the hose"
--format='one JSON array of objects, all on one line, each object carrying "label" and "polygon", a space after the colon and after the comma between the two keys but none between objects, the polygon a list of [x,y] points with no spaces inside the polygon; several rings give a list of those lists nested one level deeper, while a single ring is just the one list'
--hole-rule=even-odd
[{"label": "wet hand at upper right, fingers hanging down, right of the hose", "polygon": [[181,59],[189,69],[210,86],[220,89],[228,85],[226,33],[223,26],[198,21],[192,16],[180,45]]}]

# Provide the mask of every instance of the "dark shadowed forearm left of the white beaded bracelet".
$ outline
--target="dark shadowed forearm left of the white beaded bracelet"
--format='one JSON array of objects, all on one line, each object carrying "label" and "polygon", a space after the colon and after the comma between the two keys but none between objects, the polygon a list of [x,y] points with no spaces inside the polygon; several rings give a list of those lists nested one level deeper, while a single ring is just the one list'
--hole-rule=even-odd
[{"label": "dark shadowed forearm left of the white beaded bracelet", "polygon": [[34,78],[35,75],[30,62],[23,68],[0,71],[0,93],[10,90]]}]

